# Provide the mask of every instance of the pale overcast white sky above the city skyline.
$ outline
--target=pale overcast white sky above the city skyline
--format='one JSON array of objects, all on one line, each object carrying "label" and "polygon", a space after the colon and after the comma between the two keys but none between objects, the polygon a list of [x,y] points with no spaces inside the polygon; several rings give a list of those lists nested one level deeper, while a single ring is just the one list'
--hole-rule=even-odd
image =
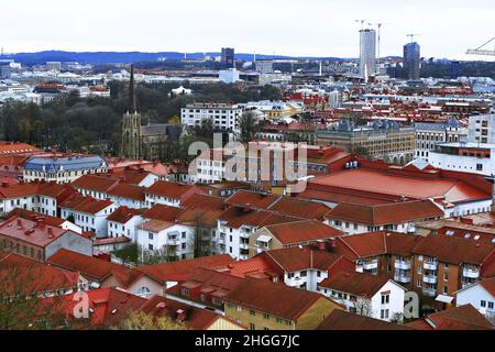
[{"label": "pale overcast white sky above the city skyline", "polygon": [[358,19],[384,23],[383,55],[418,33],[421,56],[476,59],[465,50],[495,36],[494,0],[13,0],[2,1],[0,45],[358,57]]}]

